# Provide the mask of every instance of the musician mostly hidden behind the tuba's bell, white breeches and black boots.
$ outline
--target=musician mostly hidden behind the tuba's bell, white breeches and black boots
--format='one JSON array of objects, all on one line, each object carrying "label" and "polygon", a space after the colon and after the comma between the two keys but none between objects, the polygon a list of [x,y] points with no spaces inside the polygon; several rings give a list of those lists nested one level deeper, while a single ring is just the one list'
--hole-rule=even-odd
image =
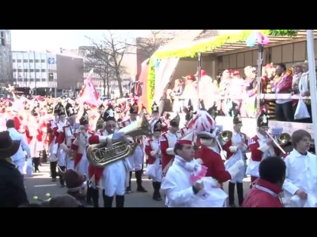
[{"label": "musician mostly hidden behind the tuba's bell, white breeches and black boots", "polygon": [[[135,122],[138,116],[138,102],[137,100],[134,100],[134,103],[130,106],[129,109],[130,112],[130,119],[122,121],[120,124],[120,128],[125,127],[129,125],[132,122]],[[134,142],[142,143],[142,138],[134,138]],[[145,188],[142,186],[142,165],[144,160],[144,153],[142,149],[142,144],[138,145],[135,149],[134,154],[129,156],[127,158],[129,163],[129,169],[130,169],[130,178],[129,178],[129,186],[126,189],[126,193],[131,193],[131,178],[132,178],[132,170],[135,171],[135,178],[137,180],[137,191],[146,193],[148,192]]]}]

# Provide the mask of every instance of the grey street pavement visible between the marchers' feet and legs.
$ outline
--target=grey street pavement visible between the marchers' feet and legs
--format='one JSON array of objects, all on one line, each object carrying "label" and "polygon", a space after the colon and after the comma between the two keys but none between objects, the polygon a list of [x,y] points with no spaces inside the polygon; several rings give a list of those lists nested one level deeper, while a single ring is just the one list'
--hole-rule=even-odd
[{"label": "grey street pavement visible between the marchers' feet and legs", "polygon": [[[26,187],[26,193],[30,202],[37,202],[33,200],[34,196],[39,197],[40,199],[46,199],[46,194],[51,194],[52,197],[56,195],[62,195],[66,193],[66,188],[60,188],[58,177],[57,182],[52,182],[50,178],[50,163],[42,163],[39,166],[40,173],[33,173],[32,178],[25,178],[24,184]],[[138,193],[136,192],[137,184],[136,179],[133,176],[131,180],[132,192],[130,194],[125,195],[124,206],[125,207],[165,207],[164,201],[155,201],[152,199],[153,195],[153,187],[152,181],[148,179],[147,176],[143,175],[143,187],[148,190],[148,193]],[[245,178],[244,180],[244,194],[246,195],[249,192],[250,178]],[[224,184],[224,191],[228,190],[228,182]],[[161,192],[161,196],[163,194]],[[235,191],[235,202],[238,204],[238,198]],[[102,207],[103,197],[100,192],[99,195],[99,206]],[[112,203],[115,206],[115,200]]]}]

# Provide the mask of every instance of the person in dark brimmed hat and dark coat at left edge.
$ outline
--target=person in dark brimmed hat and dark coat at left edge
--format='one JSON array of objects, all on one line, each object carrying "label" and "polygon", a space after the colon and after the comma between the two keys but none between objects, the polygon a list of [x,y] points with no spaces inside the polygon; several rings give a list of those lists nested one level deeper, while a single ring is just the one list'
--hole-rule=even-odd
[{"label": "person in dark brimmed hat and dark coat at left edge", "polygon": [[10,157],[17,153],[20,141],[12,141],[8,131],[0,132],[0,207],[28,204],[23,178]]}]

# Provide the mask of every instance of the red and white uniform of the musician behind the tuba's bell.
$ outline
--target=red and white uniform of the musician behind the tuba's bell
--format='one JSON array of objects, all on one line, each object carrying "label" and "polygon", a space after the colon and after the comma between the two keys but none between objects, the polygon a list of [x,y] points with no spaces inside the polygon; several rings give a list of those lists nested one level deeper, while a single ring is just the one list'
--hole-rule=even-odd
[{"label": "red and white uniform of the musician behind the tuba's bell", "polygon": [[[128,126],[129,124],[131,124],[133,121],[131,121],[130,119],[122,121],[120,123],[120,128]],[[138,137],[141,141],[143,140],[142,137]],[[133,138],[134,142],[136,141],[136,138]],[[135,171],[139,171],[142,170],[142,164],[144,161],[144,153],[143,153],[143,144],[142,145],[138,145],[135,149],[134,154],[132,154],[131,156],[129,156],[127,158],[128,160],[128,164],[129,164],[129,171],[132,171],[133,169]]]}]

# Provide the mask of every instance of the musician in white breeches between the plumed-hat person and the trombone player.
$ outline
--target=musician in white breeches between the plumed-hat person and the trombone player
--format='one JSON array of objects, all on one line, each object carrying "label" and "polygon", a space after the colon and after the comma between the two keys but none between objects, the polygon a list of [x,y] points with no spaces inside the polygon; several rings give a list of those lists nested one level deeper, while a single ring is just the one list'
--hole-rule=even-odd
[{"label": "musician in white breeches between the plumed-hat person and the trombone player", "polygon": [[[241,133],[242,120],[240,115],[233,118],[233,132],[232,138],[223,145],[223,150],[227,153],[227,160],[225,162],[226,170],[235,165],[239,160],[246,160],[245,151],[248,149],[246,134]],[[237,184],[238,202],[242,206],[243,202],[243,179],[245,177],[245,165],[239,167],[239,172],[229,181],[229,206],[235,207],[234,204],[234,189]]]}]

